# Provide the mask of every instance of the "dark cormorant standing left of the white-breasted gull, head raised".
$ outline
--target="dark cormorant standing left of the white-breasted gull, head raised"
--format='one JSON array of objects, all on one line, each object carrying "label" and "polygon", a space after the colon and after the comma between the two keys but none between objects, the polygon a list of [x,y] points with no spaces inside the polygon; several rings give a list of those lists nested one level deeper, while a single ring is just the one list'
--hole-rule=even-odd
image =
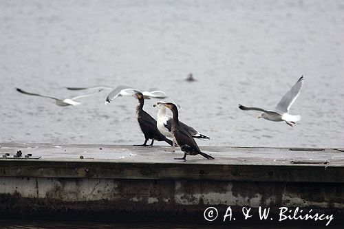
[{"label": "dark cormorant standing left of the white-breasted gull, head raised", "polygon": [[138,124],[142,133],[144,134],[144,143],[139,146],[147,146],[147,142],[151,139],[150,146],[153,146],[154,140],[165,141],[172,145],[172,141],[167,139],[156,127],[156,121],[152,118],[149,113],[143,110],[144,96],[141,92],[136,92],[135,97],[138,99],[138,106],[136,107],[136,115],[138,116]]}]

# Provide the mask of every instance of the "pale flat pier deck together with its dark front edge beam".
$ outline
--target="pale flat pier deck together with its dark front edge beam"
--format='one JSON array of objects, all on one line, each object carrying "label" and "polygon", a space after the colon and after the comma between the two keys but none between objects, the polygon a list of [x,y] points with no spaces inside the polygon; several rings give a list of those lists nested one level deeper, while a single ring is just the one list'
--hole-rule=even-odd
[{"label": "pale flat pier deck together with its dark front edge beam", "polygon": [[40,158],[1,158],[0,176],[344,182],[342,149],[202,147],[215,160],[188,155],[186,162],[173,159],[182,157],[180,150],[165,149],[170,147],[1,144],[0,157],[21,150]]}]

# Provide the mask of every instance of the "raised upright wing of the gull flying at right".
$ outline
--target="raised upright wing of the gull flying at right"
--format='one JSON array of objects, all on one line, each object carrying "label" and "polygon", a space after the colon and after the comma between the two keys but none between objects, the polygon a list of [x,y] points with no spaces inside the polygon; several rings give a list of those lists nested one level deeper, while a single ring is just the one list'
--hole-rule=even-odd
[{"label": "raised upright wing of the gull flying at right", "polygon": [[292,86],[292,88],[281,98],[276,106],[276,110],[281,113],[288,113],[290,107],[297,99],[300,94],[300,89],[303,85],[303,76],[297,80],[297,83]]}]

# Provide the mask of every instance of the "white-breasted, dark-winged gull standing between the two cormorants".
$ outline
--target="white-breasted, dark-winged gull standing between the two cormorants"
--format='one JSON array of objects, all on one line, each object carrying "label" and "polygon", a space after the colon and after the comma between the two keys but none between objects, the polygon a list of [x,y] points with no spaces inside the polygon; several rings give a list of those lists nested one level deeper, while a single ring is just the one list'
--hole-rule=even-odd
[{"label": "white-breasted, dark-winged gull standing between the two cormorants", "polygon": [[[164,106],[164,103],[166,102],[157,102],[153,105],[153,107],[158,108],[158,115],[157,115],[157,127],[160,133],[165,135],[168,138],[173,138],[173,135],[171,133],[171,127],[172,127],[172,117],[169,116],[166,113],[166,107]],[[193,138],[201,138],[201,139],[211,139],[206,135],[202,135],[200,132],[196,131],[193,129],[193,127],[189,127],[188,125],[184,124],[183,122],[179,122],[180,127],[184,130],[186,130],[188,133],[191,134]],[[175,151],[175,144],[174,144],[174,139],[173,139],[173,144],[172,144],[172,151]]]}]

